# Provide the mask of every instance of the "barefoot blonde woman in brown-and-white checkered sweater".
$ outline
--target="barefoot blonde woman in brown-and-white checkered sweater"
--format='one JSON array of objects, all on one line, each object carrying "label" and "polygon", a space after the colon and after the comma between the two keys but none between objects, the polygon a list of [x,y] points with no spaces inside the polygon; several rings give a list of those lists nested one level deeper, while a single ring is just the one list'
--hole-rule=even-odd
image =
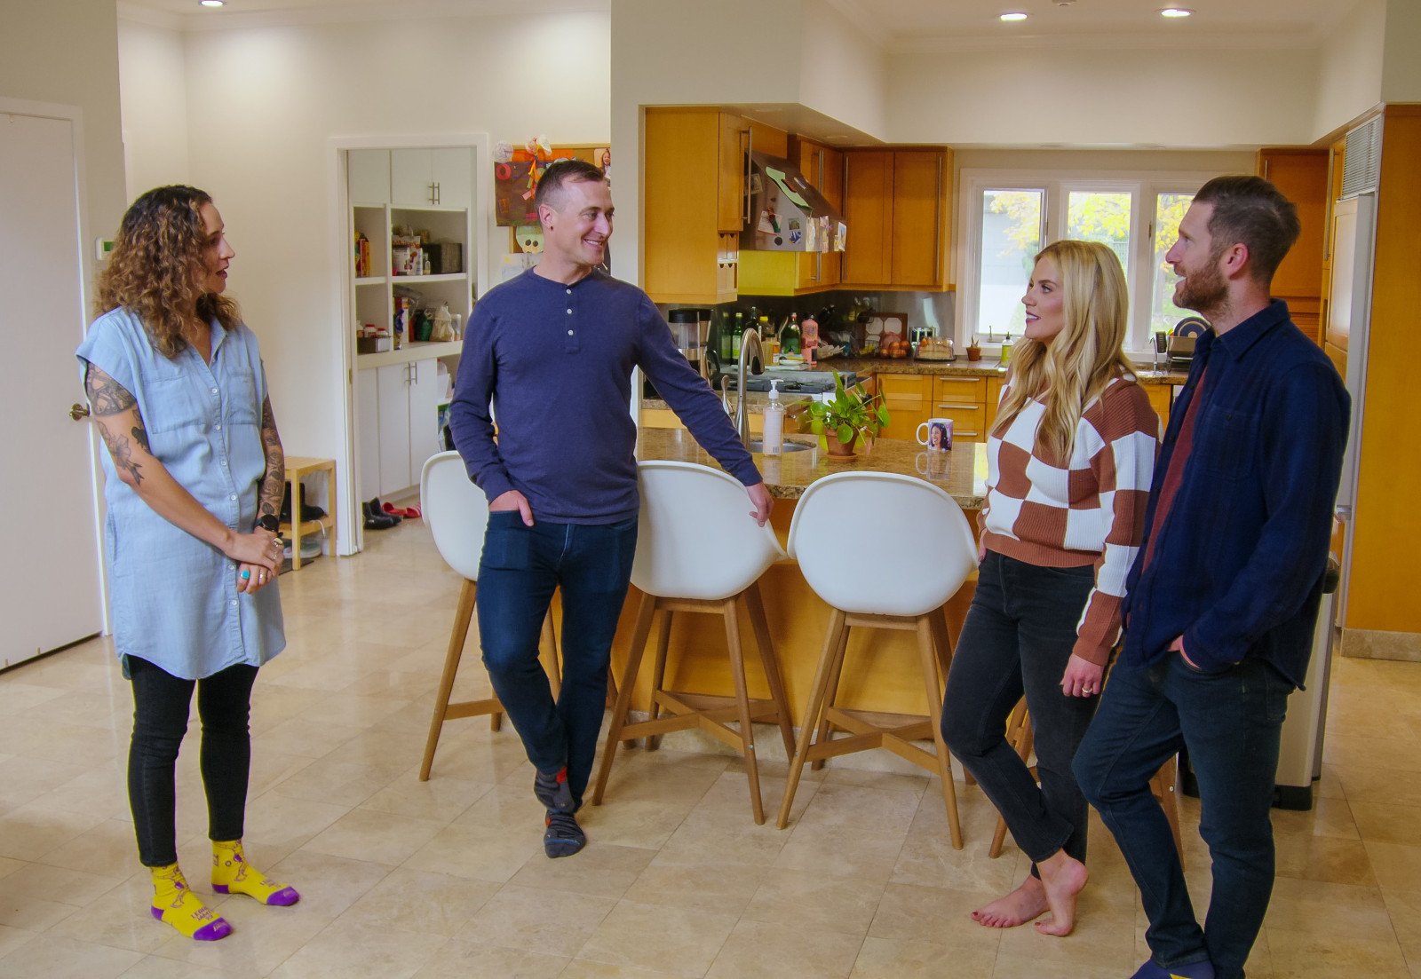
[{"label": "barefoot blonde woman in brown-and-white checkered sweater", "polygon": [[[976,777],[1032,874],[972,914],[1069,935],[1086,885],[1086,799],[1071,759],[1120,635],[1125,573],[1140,544],[1160,419],[1121,347],[1127,291],[1103,244],[1056,242],[1036,256],[988,439],[976,595],[948,676],[942,735]],[[1037,776],[1006,743],[1026,696]]]}]

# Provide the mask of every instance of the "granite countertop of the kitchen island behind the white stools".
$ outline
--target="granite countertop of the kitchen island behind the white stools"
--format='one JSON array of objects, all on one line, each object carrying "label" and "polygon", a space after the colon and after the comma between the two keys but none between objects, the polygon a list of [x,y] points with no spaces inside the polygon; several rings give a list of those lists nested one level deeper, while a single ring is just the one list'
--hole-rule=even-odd
[{"label": "granite countertop of the kitchen island behind the white stools", "polygon": [[[797,500],[816,479],[843,472],[917,476],[941,486],[963,510],[980,510],[986,496],[986,446],[980,442],[959,442],[951,452],[928,452],[917,442],[874,439],[872,448],[854,459],[830,462],[828,453],[811,435],[789,435],[786,440],[814,448],[783,456],[755,453],[755,465],[760,467],[770,496],[779,500]],[[685,429],[642,428],[637,438],[637,458],[719,467]]]}]

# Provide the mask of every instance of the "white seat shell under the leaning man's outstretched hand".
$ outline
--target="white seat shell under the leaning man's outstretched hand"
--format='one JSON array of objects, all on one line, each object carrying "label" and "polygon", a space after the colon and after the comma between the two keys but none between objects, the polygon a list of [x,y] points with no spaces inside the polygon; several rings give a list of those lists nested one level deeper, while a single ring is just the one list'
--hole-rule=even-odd
[{"label": "white seat shell under the leaning man's outstretched hand", "polygon": [[631,581],[661,598],[719,601],[750,587],[784,557],[769,524],[749,516],[733,476],[693,462],[637,466],[641,519]]}]

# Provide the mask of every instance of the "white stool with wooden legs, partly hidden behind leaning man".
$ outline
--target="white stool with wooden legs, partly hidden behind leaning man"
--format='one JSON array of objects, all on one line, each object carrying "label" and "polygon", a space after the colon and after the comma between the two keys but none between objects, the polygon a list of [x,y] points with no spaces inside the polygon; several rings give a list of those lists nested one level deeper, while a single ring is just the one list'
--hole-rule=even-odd
[{"label": "white stool with wooden legs, partly hidden behind leaning man", "polygon": [[[458,452],[441,452],[429,456],[419,475],[419,504],[425,526],[435,536],[435,547],[445,564],[463,575],[459,591],[459,608],[453,615],[453,631],[449,634],[449,652],[445,654],[443,675],[439,678],[439,693],[435,696],[435,713],[429,720],[429,740],[425,743],[425,759],[419,766],[419,780],[429,780],[429,767],[439,747],[439,732],[445,720],[456,718],[482,718],[489,715],[489,728],[497,730],[503,720],[503,705],[496,696],[483,701],[462,701],[449,703],[453,679],[463,658],[463,644],[469,637],[469,622],[473,618],[475,595],[479,581],[479,558],[483,557],[483,531],[489,524],[489,504],[483,490],[473,485]],[[553,617],[543,620],[543,668],[553,685],[553,696],[561,685],[557,665],[557,635],[553,632]]]}]

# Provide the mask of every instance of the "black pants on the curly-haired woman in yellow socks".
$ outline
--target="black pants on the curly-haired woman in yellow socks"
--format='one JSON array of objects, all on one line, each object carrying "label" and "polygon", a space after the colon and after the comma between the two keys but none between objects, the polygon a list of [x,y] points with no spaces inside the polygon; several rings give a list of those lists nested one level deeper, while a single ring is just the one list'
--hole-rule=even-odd
[{"label": "black pants on the curly-haired woman in yellow socks", "polygon": [[198,688],[202,718],[202,786],[207,837],[240,840],[252,769],[252,685],[257,668],[239,664],[200,681],[179,679],[146,659],[128,656],[134,686],[134,737],[128,749],[128,804],[134,810],[144,867],[178,862],[173,769],[188,733],[188,706]]}]

